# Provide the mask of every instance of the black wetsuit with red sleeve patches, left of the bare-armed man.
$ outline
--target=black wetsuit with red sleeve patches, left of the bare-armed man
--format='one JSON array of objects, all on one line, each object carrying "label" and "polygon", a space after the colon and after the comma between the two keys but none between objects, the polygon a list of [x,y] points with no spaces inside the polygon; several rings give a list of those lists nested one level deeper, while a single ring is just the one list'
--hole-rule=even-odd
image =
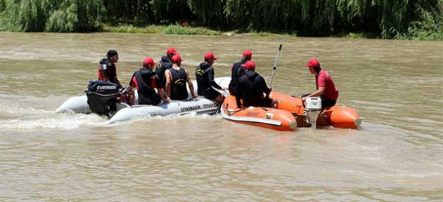
[{"label": "black wetsuit with red sleeve patches, left of the bare-armed man", "polygon": [[137,88],[139,105],[158,105],[161,102],[160,96],[154,90],[157,88],[157,75],[146,67],[134,72],[129,83]]}]

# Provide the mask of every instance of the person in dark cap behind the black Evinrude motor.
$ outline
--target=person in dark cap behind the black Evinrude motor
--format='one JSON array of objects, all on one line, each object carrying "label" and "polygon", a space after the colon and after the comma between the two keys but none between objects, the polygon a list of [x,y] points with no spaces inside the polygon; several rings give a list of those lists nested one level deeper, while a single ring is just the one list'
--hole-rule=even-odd
[{"label": "person in dark cap behind the black Evinrude motor", "polygon": [[120,81],[117,79],[117,67],[115,63],[118,62],[117,50],[108,50],[107,58],[100,60],[100,67],[98,67],[98,80],[109,81],[117,84],[118,88],[123,88]]}]

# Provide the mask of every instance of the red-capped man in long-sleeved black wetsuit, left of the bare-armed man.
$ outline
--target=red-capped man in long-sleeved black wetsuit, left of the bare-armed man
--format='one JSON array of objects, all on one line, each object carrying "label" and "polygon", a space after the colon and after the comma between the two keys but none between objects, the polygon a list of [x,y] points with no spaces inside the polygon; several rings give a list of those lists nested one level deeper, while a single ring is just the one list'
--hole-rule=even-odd
[{"label": "red-capped man in long-sleeved black wetsuit, left of the bare-armed man", "polygon": [[[154,65],[153,58],[146,58],[143,60],[143,66],[132,74],[131,81],[129,81],[129,86],[137,89],[139,94],[137,104],[139,105],[158,105],[162,101],[160,95],[163,93],[158,86],[157,75],[153,72]],[[158,93],[155,92],[155,88]],[[163,101],[166,101],[166,97],[163,98]]]}]

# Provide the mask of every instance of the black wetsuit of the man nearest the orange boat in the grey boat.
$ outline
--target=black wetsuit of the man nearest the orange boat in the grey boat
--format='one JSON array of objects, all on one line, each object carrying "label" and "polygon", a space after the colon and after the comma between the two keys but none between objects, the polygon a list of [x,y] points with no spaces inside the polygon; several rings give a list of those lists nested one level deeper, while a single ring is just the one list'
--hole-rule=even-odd
[{"label": "black wetsuit of the man nearest the orange boat in the grey boat", "polygon": [[197,80],[198,95],[203,95],[210,100],[215,100],[215,98],[219,96],[220,93],[217,92],[217,90],[214,90],[214,88],[221,90],[221,87],[215,83],[214,68],[212,68],[209,63],[200,63],[200,65],[195,69],[195,79]]}]

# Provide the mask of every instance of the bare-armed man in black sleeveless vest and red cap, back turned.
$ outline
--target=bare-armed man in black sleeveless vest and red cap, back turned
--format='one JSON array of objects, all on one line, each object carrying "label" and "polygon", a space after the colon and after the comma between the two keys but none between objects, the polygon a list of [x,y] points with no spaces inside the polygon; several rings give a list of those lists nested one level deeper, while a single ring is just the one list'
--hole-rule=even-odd
[{"label": "bare-armed man in black sleeveless vest and red cap, back turned", "polygon": [[191,78],[189,78],[188,72],[186,72],[186,69],[180,67],[180,55],[172,56],[171,60],[172,67],[167,69],[165,72],[165,90],[167,102],[171,100],[188,99],[188,90],[186,90],[186,83],[188,83],[189,85],[189,90],[191,90],[192,97],[197,98],[198,96],[194,93],[194,86],[192,84]]}]

